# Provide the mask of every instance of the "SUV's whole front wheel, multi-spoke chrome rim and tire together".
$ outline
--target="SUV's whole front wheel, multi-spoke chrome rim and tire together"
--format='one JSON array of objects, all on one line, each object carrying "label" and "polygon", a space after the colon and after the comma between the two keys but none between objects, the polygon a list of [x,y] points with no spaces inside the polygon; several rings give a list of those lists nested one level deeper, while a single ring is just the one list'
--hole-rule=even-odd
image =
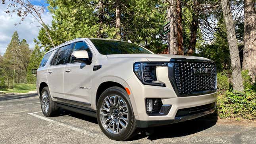
[{"label": "SUV's whole front wheel, multi-spoke chrome rim and tire together", "polygon": [[108,138],[123,141],[135,135],[136,120],[129,96],[119,87],[106,89],[97,103],[100,129]]}]

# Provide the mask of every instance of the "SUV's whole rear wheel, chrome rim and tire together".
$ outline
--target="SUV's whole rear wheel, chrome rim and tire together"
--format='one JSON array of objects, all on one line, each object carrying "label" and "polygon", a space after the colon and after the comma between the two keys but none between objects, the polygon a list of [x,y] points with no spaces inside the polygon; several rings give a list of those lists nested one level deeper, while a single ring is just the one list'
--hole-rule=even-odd
[{"label": "SUV's whole rear wheel, chrome rim and tire together", "polygon": [[58,107],[56,106],[56,103],[52,101],[52,98],[50,96],[50,91],[47,86],[44,87],[41,91],[40,103],[41,103],[42,113],[46,117],[52,117],[56,115],[58,111]]}]

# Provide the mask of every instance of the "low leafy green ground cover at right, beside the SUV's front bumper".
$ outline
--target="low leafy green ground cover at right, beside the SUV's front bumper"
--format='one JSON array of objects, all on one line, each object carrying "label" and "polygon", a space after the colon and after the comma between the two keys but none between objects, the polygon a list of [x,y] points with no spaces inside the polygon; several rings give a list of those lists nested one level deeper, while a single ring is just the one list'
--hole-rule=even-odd
[{"label": "low leafy green ground cover at right, beside the SUV's front bumper", "polygon": [[226,91],[218,96],[220,118],[256,119],[256,93],[253,91]]}]

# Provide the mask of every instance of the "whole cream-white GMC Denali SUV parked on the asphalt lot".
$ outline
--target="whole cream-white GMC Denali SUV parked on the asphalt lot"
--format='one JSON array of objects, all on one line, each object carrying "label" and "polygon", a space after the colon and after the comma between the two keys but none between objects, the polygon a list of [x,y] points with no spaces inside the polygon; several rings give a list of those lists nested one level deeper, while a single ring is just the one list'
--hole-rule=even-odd
[{"label": "whole cream-white GMC Denali SUV parked on the asphalt lot", "polygon": [[47,52],[37,70],[42,112],[64,108],[98,119],[114,140],[137,128],[167,125],[213,113],[214,61],[154,54],[131,42],[77,38]]}]

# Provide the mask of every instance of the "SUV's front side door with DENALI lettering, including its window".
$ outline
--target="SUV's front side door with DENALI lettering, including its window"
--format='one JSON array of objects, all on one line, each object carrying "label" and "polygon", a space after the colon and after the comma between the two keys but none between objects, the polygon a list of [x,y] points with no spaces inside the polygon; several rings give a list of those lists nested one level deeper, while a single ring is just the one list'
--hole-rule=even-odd
[{"label": "SUV's front side door with DENALI lettering, including its window", "polygon": [[[86,50],[89,59],[92,60],[92,51],[85,42],[74,43],[73,51],[78,50]],[[90,106],[92,95],[92,70],[93,64],[86,65],[85,63],[75,61],[75,59],[71,57],[70,63],[65,65],[64,69],[65,99],[80,103],[83,102],[83,104]]]}]

